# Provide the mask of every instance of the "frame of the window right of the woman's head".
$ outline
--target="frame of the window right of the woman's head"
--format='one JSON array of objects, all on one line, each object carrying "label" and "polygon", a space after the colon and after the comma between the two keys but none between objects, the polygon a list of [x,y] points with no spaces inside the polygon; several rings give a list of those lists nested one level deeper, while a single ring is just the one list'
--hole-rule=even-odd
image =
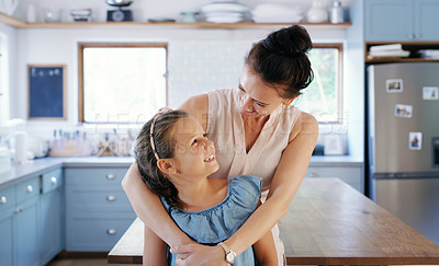
[{"label": "frame of the window right of the woman's head", "polygon": [[[313,43],[314,48],[335,48],[338,50],[338,73],[337,73],[337,84],[336,84],[336,95],[337,95],[337,119],[334,122],[318,122],[320,125],[345,125],[346,118],[345,114],[345,91],[344,91],[344,43]],[[317,119],[318,120],[318,119]]]}]

